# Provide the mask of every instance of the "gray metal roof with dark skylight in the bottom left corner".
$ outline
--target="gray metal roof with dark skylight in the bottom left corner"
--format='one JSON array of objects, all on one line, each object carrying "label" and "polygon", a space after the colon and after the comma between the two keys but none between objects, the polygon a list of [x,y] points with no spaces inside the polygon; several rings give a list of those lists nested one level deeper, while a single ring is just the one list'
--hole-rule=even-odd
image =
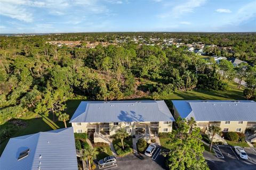
[{"label": "gray metal roof with dark skylight in the bottom left corner", "polygon": [[[26,149],[30,149],[29,155],[18,160],[19,153]],[[11,138],[0,158],[0,169],[38,170],[39,166],[78,169],[73,127]]]}]

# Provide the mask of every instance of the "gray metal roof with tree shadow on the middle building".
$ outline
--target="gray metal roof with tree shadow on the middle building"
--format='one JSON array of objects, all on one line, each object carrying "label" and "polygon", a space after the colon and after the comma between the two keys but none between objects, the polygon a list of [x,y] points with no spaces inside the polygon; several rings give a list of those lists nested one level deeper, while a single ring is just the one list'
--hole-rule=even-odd
[{"label": "gray metal roof with tree shadow on the middle building", "polygon": [[159,121],[174,121],[163,100],[82,101],[70,119],[70,123]]}]

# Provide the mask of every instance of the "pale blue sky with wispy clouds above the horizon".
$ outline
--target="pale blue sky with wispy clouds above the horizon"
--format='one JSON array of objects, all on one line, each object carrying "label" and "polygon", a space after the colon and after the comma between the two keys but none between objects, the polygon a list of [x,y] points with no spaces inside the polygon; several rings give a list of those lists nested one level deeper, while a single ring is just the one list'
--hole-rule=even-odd
[{"label": "pale blue sky with wispy clouds above the horizon", "polygon": [[0,33],[256,31],[256,0],[0,0]]}]

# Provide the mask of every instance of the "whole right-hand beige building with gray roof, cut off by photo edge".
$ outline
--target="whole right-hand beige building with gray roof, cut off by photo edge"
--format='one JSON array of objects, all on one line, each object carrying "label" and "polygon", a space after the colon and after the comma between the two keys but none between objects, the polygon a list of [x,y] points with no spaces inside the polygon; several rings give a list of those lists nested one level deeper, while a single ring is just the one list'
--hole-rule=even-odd
[{"label": "whole right-hand beige building with gray roof, cut off by photo edge", "polygon": [[201,129],[219,126],[223,132],[256,128],[256,102],[249,100],[173,100],[174,118],[193,117]]}]

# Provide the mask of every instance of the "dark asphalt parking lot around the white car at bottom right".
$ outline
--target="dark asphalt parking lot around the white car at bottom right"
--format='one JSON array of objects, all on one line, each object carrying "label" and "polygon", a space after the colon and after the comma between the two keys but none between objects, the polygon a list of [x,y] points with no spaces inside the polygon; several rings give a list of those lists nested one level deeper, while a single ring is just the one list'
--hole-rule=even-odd
[{"label": "dark asphalt parking lot around the white car at bottom right", "polygon": [[[210,169],[256,169],[256,149],[244,148],[248,159],[242,159],[229,145],[219,145],[220,152],[217,156],[210,152],[204,152],[204,157],[210,166]],[[220,155],[223,155],[221,157]]]}]

